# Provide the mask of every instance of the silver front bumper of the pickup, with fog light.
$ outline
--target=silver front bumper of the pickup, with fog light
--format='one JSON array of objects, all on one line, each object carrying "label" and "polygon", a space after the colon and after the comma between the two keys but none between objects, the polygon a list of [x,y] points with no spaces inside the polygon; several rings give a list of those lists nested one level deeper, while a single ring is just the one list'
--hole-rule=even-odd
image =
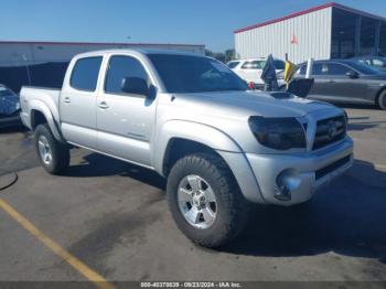
[{"label": "silver front bumper of the pickup, with fog light", "polygon": [[293,205],[347,171],[353,164],[353,141],[302,154],[246,154],[264,203]]}]

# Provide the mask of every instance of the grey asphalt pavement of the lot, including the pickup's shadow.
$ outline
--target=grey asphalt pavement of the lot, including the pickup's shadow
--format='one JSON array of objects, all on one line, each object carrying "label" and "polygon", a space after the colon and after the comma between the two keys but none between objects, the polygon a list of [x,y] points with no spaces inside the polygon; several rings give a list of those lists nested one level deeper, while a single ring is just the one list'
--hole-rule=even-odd
[{"label": "grey asphalt pavement of the lot, including the pickup's shadow", "polygon": [[256,205],[242,236],[216,250],[178,231],[154,172],[74,149],[66,174],[49,175],[31,133],[7,129],[0,179],[18,180],[0,191],[14,210],[0,204],[0,280],[86,280],[88,268],[114,281],[386,281],[386,113],[345,109],[352,170],[307,205]]}]

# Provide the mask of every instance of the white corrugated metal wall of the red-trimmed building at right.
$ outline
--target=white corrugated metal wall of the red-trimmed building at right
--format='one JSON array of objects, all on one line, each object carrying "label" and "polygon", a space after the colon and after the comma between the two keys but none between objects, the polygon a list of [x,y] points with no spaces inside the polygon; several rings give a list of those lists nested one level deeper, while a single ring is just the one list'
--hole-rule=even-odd
[{"label": "white corrugated metal wall of the red-trimmed building at right", "polygon": [[[237,58],[267,56],[301,63],[330,58],[332,8],[313,11],[265,26],[235,33]],[[296,38],[298,43],[291,43]]]}]

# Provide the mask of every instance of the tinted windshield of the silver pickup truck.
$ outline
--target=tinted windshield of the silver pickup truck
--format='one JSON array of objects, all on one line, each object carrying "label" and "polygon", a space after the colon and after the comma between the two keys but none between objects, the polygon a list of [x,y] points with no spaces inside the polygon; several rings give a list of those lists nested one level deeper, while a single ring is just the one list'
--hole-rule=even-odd
[{"label": "tinted windshield of the silver pickup truck", "polygon": [[246,90],[246,83],[225,64],[200,56],[149,54],[168,93]]}]

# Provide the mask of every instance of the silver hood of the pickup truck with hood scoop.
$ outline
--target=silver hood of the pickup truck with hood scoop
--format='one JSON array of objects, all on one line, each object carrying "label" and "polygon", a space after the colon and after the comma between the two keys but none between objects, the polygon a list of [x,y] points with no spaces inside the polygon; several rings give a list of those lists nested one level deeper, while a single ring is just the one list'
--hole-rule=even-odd
[{"label": "silver hood of the pickup truck with hood scoop", "polygon": [[[190,111],[234,117],[302,117],[317,110],[342,110],[331,104],[310,100],[287,93],[221,92],[176,95]],[[332,113],[332,111],[330,111]]]}]

